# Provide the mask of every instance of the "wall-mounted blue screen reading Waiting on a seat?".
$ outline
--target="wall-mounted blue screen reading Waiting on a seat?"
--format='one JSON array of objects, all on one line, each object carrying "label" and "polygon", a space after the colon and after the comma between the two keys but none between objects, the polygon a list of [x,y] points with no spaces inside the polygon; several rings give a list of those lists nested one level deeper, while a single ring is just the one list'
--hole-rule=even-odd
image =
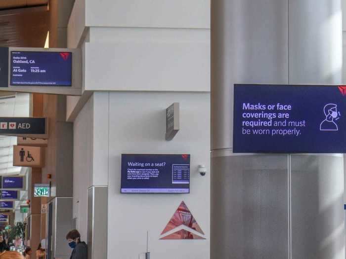
[{"label": "wall-mounted blue screen reading Waiting on a seat?", "polygon": [[189,154],[122,154],[121,193],[189,192]]}]

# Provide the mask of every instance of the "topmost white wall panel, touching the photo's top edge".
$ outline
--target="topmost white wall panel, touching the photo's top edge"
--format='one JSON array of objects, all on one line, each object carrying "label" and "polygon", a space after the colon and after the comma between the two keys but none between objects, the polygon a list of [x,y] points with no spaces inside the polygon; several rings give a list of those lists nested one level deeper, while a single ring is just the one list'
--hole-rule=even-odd
[{"label": "topmost white wall panel, touching the photo's top edge", "polygon": [[87,26],[210,28],[210,0],[86,0]]}]

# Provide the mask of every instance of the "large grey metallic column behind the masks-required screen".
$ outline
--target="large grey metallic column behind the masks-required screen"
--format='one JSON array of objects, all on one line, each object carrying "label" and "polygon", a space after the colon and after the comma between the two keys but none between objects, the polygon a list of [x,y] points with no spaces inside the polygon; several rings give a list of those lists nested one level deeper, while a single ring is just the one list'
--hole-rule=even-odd
[{"label": "large grey metallic column behind the masks-required screen", "polygon": [[212,1],[213,259],[344,258],[342,156],[232,153],[233,84],[339,84],[341,33],[340,0]]}]

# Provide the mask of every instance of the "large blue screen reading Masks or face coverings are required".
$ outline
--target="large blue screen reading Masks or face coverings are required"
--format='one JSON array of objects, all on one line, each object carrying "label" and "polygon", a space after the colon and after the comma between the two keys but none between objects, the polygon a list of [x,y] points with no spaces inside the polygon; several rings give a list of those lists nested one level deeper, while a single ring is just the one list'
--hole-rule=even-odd
[{"label": "large blue screen reading Masks or face coverings are required", "polygon": [[346,86],[234,85],[233,152],[346,153]]}]

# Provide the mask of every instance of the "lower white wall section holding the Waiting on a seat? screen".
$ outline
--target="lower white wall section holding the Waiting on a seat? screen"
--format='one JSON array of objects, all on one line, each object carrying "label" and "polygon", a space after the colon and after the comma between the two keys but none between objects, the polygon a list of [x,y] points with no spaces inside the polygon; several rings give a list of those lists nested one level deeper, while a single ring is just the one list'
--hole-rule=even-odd
[{"label": "lower white wall section holding the Waiting on a seat? screen", "polygon": [[[108,258],[138,258],[146,252],[148,230],[152,258],[209,259],[210,94],[109,95]],[[165,141],[165,109],[173,102],[180,103],[180,131],[172,141]],[[122,153],[191,154],[190,194],[120,194]],[[208,170],[204,177],[197,172],[199,164]],[[181,201],[191,210],[206,240],[159,240]]]}]

